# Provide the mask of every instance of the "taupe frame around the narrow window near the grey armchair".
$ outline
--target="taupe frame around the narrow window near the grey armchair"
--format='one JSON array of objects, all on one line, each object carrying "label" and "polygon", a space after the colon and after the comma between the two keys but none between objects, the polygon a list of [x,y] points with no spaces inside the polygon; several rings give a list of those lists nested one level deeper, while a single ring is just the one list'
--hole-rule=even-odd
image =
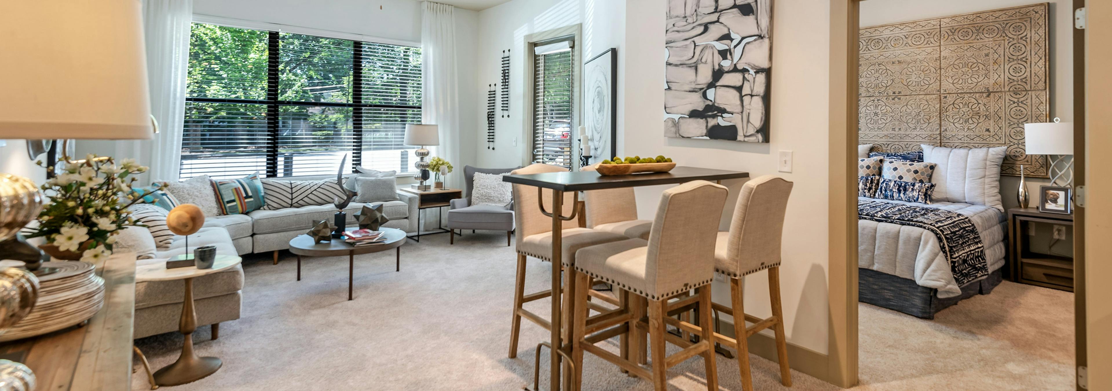
[{"label": "taupe frame around the narrow window near the grey armchair", "polygon": [[522,134],[524,140],[529,140],[528,142],[522,142],[519,146],[522,153],[522,166],[532,164],[534,159],[534,123],[536,114],[534,108],[536,107],[536,63],[534,61],[534,49],[537,46],[544,46],[552,42],[554,39],[562,37],[573,37],[572,47],[572,171],[578,171],[579,164],[579,140],[577,129],[582,124],[580,109],[583,107],[583,24],[570,24],[562,28],[556,28],[552,30],[546,30],[542,32],[536,32],[525,36],[525,42],[523,50],[517,53],[517,56],[523,56],[522,62],[524,64],[524,87],[525,96],[522,116]]}]

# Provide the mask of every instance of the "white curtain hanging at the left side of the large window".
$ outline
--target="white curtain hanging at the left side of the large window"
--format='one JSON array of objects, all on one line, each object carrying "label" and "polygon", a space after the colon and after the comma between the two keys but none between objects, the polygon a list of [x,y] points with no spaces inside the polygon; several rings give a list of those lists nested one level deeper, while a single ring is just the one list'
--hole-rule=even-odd
[{"label": "white curtain hanging at the left side of the large window", "polygon": [[117,161],[132,158],[150,167],[146,178],[141,178],[143,181],[177,181],[193,0],[143,0],[142,9],[150,111],[158,121],[159,133],[151,140],[116,141],[113,156]]}]

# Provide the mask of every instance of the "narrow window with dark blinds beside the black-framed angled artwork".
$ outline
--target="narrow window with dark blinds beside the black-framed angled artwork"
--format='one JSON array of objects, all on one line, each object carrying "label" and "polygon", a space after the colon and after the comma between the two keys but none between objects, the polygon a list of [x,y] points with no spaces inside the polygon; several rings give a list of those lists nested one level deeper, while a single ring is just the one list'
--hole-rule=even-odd
[{"label": "narrow window with dark blinds beside the black-framed angled artwork", "polygon": [[574,37],[537,42],[533,57],[533,162],[570,169]]}]

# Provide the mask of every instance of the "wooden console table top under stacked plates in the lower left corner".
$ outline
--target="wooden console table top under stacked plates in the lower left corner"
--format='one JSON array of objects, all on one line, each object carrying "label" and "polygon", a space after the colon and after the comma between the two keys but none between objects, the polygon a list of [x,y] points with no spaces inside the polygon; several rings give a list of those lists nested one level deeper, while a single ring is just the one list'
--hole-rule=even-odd
[{"label": "wooden console table top under stacked plates in the lower left corner", "polygon": [[136,310],[135,253],[97,263],[105,307],[83,327],[0,343],[0,358],[27,364],[37,390],[131,389],[131,335]]}]

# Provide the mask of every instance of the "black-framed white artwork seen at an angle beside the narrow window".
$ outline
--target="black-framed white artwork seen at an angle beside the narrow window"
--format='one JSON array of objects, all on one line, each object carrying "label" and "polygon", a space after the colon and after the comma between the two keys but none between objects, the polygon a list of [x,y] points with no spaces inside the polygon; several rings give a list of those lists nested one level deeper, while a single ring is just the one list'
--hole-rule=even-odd
[{"label": "black-framed white artwork seen at an angle beside the narrow window", "polygon": [[594,164],[616,156],[617,146],[617,49],[610,48],[583,66],[583,124],[590,138],[590,160]]}]

